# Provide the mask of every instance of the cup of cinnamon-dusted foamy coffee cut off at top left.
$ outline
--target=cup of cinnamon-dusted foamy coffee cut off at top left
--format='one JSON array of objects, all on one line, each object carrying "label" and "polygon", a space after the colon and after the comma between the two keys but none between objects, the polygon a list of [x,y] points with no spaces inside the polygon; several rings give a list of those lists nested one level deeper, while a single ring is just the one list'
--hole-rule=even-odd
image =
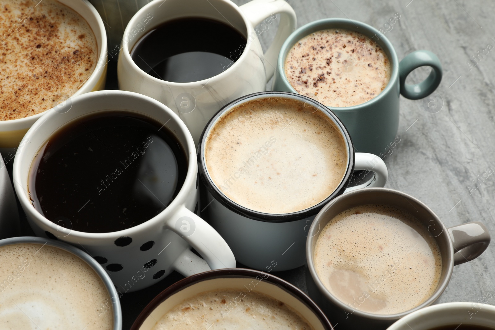
[{"label": "cup of cinnamon-dusted foamy coffee cut off at top left", "polygon": [[[38,1],[29,0],[19,3],[19,1],[9,0],[3,4],[8,4],[10,6],[11,12],[9,15],[11,15],[12,18],[6,17],[6,19],[11,19],[10,22],[13,23],[0,21],[3,26],[5,26],[5,24],[11,24],[11,27],[5,29],[5,33],[0,36],[0,43],[4,43],[10,47],[10,49],[13,49],[12,52],[17,51],[18,53],[11,53],[11,56],[20,58],[18,61],[23,64],[9,63],[12,67],[15,67],[15,70],[13,70],[12,73],[15,74],[15,72],[19,72],[19,74],[22,74],[22,72],[25,71],[26,75],[23,76],[24,79],[34,79],[34,76],[39,78],[37,79],[37,82],[45,80],[47,83],[47,85],[35,86],[35,88],[43,91],[38,91],[38,94],[33,94],[31,97],[32,102],[30,102],[29,94],[23,94],[23,97],[26,97],[26,103],[24,105],[22,103],[20,104],[21,109],[15,109],[14,112],[11,112],[11,107],[7,106],[2,110],[6,112],[0,113],[0,151],[2,152],[3,160],[7,163],[12,161],[17,148],[27,142],[23,137],[28,129],[40,119],[46,111],[53,107],[57,112],[67,112],[70,110],[71,106],[70,96],[77,96],[104,89],[106,81],[107,45],[103,21],[98,11],[88,1],[50,0],[39,3]],[[66,16],[72,15],[73,17],[66,20],[60,19],[56,14],[53,14],[53,12],[59,10],[64,10],[67,14]],[[46,15],[46,17],[43,15]],[[36,22],[35,19],[38,19],[41,16],[47,21],[41,23]],[[79,26],[76,24],[75,28],[71,28],[71,26],[68,25],[73,24],[73,21],[77,21],[78,19],[81,20]],[[34,22],[36,22],[36,25]],[[39,33],[40,29],[43,30],[38,23],[41,24],[41,27],[43,27],[43,24],[49,23],[48,26],[45,26],[46,29],[58,29],[58,35],[56,37],[52,36],[51,39],[55,41],[57,40],[56,38],[61,39],[60,42],[63,43],[64,46],[53,45],[53,42],[50,43],[48,38],[38,38],[40,39],[40,44],[34,45],[32,49],[22,47],[24,45],[22,43],[24,39],[26,40],[25,44],[32,42],[32,40],[36,40],[33,39],[33,36],[31,36],[30,33]],[[74,43],[74,40],[67,39],[69,38],[68,36],[71,36],[71,33],[66,30],[71,29],[74,29],[74,31],[80,30],[81,34],[76,33],[76,38],[78,40],[93,39],[91,37],[87,38],[87,36],[83,37],[83,35],[91,33],[94,35],[94,40],[88,41],[86,44],[86,47],[92,48],[92,62],[88,71],[85,71],[84,69],[79,70],[77,65],[69,65],[66,67],[62,65],[59,67],[60,70],[57,70],[57,64],[64,64],[64,61],[72,61],[73,59],[63,58],[63,56],[57,56],[56,54],[65,52],[69,54],[66,57],[76,57],[77,54],[79,54],[79,49],[75,47],[75,45],[77,46],[77,43]],[[43,30],[42,32],[45,31]],[[20,40],[20,42],[14,43],[14,40]],[[93,47],[96,49],[93,49]],[[76,50],[72,51],[72,49]],[[82,54],[83,52],[81,51],[80,53]],[[29,54],[32,54],[33,56],[28,56]],[[43,61],[44,63],[40,64]],[[49,67],[47,63],[55,63],[55,65]],[[84,61],[81,61],[76,64],[84,65],[85,63]],[[52,71],[50,71],[50,68]],[[29,72],[31,74],[28,74]],[[91,74],[88,74],[87,72],[91,72]],[[54,75],[45,76],[50,75],[51,73],[54,73]],[[82,81],[70,77],[79,76],[80,73],[82,74],[81,77],[84,77]],[[14,77],[14,79],[16,78]],[[13,91],[10,92],[7,82],[8,80],[2,81],[4,92],[6,91],[7,93],[14,94],[17,91],[17,88],[20,87],[17,86],[19,85],[17,84],[16,87],[12,89]],[[22,88],[29,91],[30,86],[28,84]],[[66,94],[72,93],[70,91],[72,91],[73,94]],[[33,93],[35,92],[36,91],[33,91]],[[3,101],[8,103],[7,99],[4,99]],[[6,117],[10,117],[11,119],[4,120],[3,118]]]}]

